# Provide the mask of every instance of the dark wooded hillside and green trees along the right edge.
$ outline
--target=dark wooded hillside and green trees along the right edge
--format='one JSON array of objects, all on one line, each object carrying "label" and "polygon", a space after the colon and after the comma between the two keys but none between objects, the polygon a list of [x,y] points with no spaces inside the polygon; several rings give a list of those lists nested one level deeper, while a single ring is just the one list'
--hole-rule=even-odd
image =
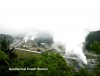
[{"label": "dark wooded hillside and green trees along the right edge", "polygon": [[97,55],[96,64],[92,69],[91,76],[99,76],[100,75],[100,31],[90,32],[86,37],[86,45],[85,49],[93,52]]}]

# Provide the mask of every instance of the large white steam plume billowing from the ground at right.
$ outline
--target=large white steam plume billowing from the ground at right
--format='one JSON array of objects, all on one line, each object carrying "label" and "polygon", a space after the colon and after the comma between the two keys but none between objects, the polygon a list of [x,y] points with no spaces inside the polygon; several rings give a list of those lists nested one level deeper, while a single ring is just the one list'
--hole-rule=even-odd
[{"label": "large white steam plume billowing from the ground at right", "polygon": [[87,64],[87,59],[82,49],[83,42],[85,42],[85,38],[90,31],[96,30],[100,30],[100,27],[97,25],[85,26],[82,28],[80,27],[79,29],[75,28],[74,31],[70,30],[67,32],[64,32],[63,28],[63,31],[60,32],[56,30],[54,35],[54,41],[60,41],[65,45],[66,56],[76,55],[78,60],[82,61],[84,64]]}]

